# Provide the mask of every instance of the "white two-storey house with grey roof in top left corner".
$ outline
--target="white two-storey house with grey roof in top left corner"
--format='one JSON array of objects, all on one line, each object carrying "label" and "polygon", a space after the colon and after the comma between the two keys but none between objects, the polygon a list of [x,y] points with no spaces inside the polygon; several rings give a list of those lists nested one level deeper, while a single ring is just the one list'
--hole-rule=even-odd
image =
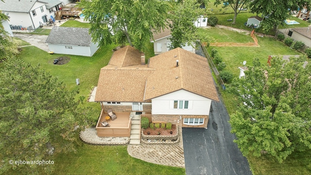
[{"label": "white two-storey house with grey roof in top left corner", "polygon": [[0,11],[10,16],[12,29],[36,29],[55,18],[54,11],[72,0],[0,0]]}]

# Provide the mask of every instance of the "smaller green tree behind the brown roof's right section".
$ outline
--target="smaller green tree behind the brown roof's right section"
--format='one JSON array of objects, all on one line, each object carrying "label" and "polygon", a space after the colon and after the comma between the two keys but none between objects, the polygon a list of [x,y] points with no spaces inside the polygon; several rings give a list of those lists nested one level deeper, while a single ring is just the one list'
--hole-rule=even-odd
[{"label": "smaller green tree behind the brown roof's right section", "polygon": [[191,43],[199,39],[198,29],[194,26],[194,21],[203,16],[204,12],[197,0],[184,0],[176,5],[170,15],[171,49],[181,48],[187,43],[192,45]]}]

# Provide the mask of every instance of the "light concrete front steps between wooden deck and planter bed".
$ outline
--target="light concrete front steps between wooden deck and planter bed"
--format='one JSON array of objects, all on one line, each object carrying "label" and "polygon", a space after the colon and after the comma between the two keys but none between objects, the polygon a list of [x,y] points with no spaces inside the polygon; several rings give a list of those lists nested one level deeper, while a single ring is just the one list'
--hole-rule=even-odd
[{"label": "light concrete front steps between wooden deck and planter bed", "polygon": [[130,136],[130,144],[140,144],[140,115],[136,115],[136,112],[131,112],[132,118],[132,126],[131,126],[131,136]]}]

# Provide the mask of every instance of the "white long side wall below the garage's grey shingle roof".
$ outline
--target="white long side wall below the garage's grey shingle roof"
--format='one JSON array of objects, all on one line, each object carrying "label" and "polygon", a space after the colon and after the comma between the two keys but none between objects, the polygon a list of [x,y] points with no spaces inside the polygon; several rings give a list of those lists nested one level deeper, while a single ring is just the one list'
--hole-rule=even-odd
[{"label": "white long side wall below the garage's grey shingle roof", "polygon": [[[65,46],[71,46],[72,49],[66,49]],[[90,48],[88,46],[74,46],[49,43],[49,49],[51,52],[60,54],[92,56],[90,53]]]}]

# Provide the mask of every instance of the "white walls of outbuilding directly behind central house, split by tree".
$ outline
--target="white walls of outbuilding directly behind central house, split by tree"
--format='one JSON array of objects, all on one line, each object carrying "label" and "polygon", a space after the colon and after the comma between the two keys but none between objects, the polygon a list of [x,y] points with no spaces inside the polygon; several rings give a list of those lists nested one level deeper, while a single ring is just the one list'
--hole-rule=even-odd
[{"label": "white walls of outbuilding directly behind central house, split by tree", "polygon": [[[160,54],[160,53],[165,53],[168,51],[168,43],[171,42],[170,38],[172,36],[166,37],[166,38],[162,38],[159,39],[157,41],[154,42],[154,51],[155,54]],[[161,48],[161,50],[159,50]],[[186,45],[184,47],[182,47],[183,49],[185,49],[186,51],[195,53],[195,48],[192,48],[191,45]]]}]

